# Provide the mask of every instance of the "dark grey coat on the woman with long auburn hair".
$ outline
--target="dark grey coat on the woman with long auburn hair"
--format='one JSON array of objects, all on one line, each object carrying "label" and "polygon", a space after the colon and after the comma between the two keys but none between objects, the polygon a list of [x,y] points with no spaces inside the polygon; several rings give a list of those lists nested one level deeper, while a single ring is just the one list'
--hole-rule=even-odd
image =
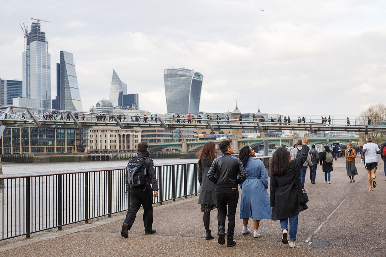
[{"label": "dark grey coat on the woman with long auburn hair", "polygon": [[208,179],[208,171],[212,161],[210,158],[201,159],[198,165],[198,182],[201,185],[200,196],[198,196],[199,205],[217,205],[216,200],[216,184]]}]

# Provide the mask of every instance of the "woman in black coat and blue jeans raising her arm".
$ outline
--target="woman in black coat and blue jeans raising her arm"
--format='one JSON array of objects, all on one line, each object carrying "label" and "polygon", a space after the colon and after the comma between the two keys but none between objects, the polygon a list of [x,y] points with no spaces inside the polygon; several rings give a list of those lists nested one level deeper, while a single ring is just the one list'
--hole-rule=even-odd
[{"label": "woman in black coat and blue jeans raising her arm", "polygon": [[[281,242],[288,243],[289,220],[289,247],[295,247],[296,233],[298,232],[298,216],[301,211],[308,208],[305,202],[300,201],[298,190],[303,189],[300,181],[300,168],[307,159],[308,140],[303,137],[303,147],[300,156],[290,161],[288,151],[279,147],[274,152],[270,162],[270,198],[272,207],[272,220],[280,220],[282,238]],[[295,180],[298,180],[296,182]],[[298,187],[301,188],[298,188]],[[305,191],[304,191],[305,192]]]}]

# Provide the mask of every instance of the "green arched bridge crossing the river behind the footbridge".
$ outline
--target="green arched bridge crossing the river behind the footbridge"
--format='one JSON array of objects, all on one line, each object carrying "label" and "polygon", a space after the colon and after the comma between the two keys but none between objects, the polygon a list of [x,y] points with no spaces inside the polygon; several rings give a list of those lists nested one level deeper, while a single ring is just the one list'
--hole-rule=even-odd
[{"label": "green arched bridge crossing the river behind the footbridge", "polygon": [[[260,145],[264,143],[264,139],[268,140],[269,144],[276,144],[276,145],[287,145],[291,146],[293,142],[293,138],[289,137],[269,137],[269,138],[255,138],[255,139],[239,139],[239,140],[232,140],[232,145],[235,149],[241,149],[245,145],[250,145],[251,147],[254,147],[256,145]],[[349,142],[356,141],[356,137],[315,137],[315,138],[308,138],[308,144],[326,144],[328,142],[340,142],[343,144],[349,144]],[[208,141],[200,140],[200,141],[186,141],[182,140],[181,142],[175,142],[175,143],[161,143],[161,144],[149,144],[149,150],[155,150],[159,148],[173,148],[180,150],[181,152],[192,152],[194,150],[199,150],[201,147]],[[221,140],[213,140],[213,142],[220,143]]]}]

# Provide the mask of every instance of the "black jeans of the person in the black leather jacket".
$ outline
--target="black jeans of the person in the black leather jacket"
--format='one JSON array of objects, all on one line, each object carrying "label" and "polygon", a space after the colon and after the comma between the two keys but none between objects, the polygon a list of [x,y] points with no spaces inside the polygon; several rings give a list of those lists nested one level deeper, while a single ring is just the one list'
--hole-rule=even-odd
[{"label": "black jeans of the person in the black leather jacket", "polygon": [[225,217],[228,205],[228,238],[233,238],[235,232],[236,207],[239,201],[239,189],[216,188],[218,227],[225,228]]}]

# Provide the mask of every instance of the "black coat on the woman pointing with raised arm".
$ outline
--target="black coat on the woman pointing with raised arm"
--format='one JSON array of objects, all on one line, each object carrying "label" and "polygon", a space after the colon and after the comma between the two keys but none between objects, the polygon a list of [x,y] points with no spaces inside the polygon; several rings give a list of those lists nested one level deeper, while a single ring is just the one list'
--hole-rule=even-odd
[{"label": "black coat on the woman pointing with raised arm", "polygon": [[289,218],[308,208],[299,203],[296,191],[295,176],[300,178],[300,168],[307,159],[310,147],[303,145],[300,156],[289,162],[288,169],[283,176],[271,175],[269,191],[271,198],[272,220]]}]

